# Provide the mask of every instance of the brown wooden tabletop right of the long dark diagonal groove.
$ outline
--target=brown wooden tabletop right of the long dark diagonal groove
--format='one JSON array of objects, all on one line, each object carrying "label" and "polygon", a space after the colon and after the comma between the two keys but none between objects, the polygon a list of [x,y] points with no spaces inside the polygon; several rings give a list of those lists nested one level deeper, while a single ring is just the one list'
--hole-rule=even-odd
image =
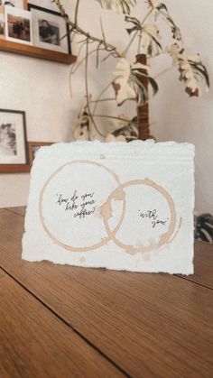
[{"label": "brown wooden tabletop right of the long dark diagonal groove", "polygon": [[0,265],[126,375],[212,377],[213,246],[189,277],[21,260],[23,217],[0,210]]}]

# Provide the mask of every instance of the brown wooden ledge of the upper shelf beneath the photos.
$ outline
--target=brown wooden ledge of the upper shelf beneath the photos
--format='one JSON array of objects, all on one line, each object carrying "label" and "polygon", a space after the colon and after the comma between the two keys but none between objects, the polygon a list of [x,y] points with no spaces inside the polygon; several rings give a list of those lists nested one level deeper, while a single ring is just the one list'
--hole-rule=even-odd
[{"label": "brown wooden ledge of the upper shelf beneath the photos", "polygon": [[0,39],[0,51],[13,52],[31,58],[51,60],[63,64],[71,64],[76,61],[76,56],[64,52],[51,51],[27,44],[16,43]]}]

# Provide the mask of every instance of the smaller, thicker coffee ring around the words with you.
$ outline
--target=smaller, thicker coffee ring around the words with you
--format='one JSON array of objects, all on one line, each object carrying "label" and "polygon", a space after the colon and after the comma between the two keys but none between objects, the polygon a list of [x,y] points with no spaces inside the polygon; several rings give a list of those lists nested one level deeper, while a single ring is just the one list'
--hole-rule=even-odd
[{"label": "smaller, thicker coffee ring around the words with you", "polygon": [[[134,247],[133,245],[126,245],[126,244],[123,244],[121,241],[119,241],[116,238],[116,233],[117,233],[118,230],[116,231],[116,233],[112,232],[110,230],[109,226],[108,226],[107,217],[103,217],[104,224],[105,224],[105,227],[106,227],[106,232],[107,232],[108,235],[110,235],[110,239],[113,240],[114,243],[116,243],[116,245],[125,249],[125,252],[128,253],[128,254],[136,254],[136,253],[139,253],[139,252],[143,252],[143,253],[144,252],[151,252],[154,249],[160,248],[163,244],[167,244],[167,243],[170,242],[171,235],[173,235],[174,229],[175,229],[175,226],[176,226],[176,211],[175,211],[174,202],[173,202],[173,199],[171,198],[171,195],[165,189],[163,189],[160,185],[156,184],[153,180],[149,180],[149,179],[127,181],[124,184],[121,184],[119,186],[119,190],[121,190],[121,189],[123,190],[123,189],[130,187],[130,186],[133,186],[133,185],[146,185],[146,186],[152,187],[153,189],[157,190],[162,195],[163,198],[165,198],[167,200],[167,203],[168,203],[170,210],[171,210],[171,222],[170,222],[170,226],[169,226],[168,231],[165,234],[162,234],[158,243],[151,243],[147,246],[140,246],[140,247],[137,247],[137,248]],[[106,200],[106,204],[108,204],[108,206],[110,206],[112,199],[115,198],[116,190],[114,190],[108,196],[108,198]],[[122,218],[122,221],[124,220],[124,217],[125,217],[125,214]]]}]

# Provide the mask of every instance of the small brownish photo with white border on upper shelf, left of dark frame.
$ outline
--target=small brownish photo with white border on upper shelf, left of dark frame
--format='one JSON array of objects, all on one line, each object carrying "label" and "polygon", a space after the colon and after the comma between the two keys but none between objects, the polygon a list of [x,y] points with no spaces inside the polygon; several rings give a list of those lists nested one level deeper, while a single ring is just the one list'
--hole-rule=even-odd
[{"label": "small brownish photo with white border on upper shelf, left of dark frame", "polygon": [[6,5],[5,38],[8,41],[32,45],[32,14]]}]

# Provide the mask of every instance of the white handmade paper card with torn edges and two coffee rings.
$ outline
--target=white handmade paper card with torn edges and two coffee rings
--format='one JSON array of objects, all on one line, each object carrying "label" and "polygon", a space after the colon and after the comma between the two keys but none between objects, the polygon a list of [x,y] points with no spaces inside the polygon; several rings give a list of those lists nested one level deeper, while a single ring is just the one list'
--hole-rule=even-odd
[{"label": "white handmade paper card with torn edges and two coffee rings", "polygon": [[194,146],[76,142],[32,166],[23,259],[193,272]]}]

